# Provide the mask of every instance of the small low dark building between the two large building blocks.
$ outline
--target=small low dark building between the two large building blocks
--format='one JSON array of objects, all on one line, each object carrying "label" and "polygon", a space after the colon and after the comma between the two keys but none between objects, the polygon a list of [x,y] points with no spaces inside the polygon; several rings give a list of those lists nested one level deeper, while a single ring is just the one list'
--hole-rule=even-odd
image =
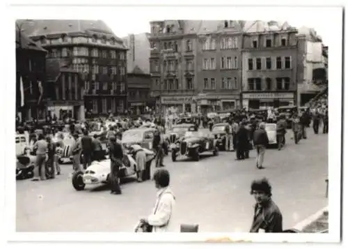
[{"label": "small low dark building between the two large building blocks", "polygon": [[128,110],[130,114],[148,114],[153,102],[150,97],[151,76],[135,66],[132,73],[128,73]]}]

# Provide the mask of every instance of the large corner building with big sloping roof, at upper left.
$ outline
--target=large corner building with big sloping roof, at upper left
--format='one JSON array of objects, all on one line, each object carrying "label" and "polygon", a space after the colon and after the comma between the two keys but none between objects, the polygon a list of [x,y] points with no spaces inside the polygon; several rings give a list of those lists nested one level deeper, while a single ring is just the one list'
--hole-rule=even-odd
[{"label": "large corner building with big sloping roof, at upper left", "polygon": [[47,60],[84,80],[86,118],[127,110],[127,56],[122,39],[100,20],[34,20],[24,31],[49,51]]}]

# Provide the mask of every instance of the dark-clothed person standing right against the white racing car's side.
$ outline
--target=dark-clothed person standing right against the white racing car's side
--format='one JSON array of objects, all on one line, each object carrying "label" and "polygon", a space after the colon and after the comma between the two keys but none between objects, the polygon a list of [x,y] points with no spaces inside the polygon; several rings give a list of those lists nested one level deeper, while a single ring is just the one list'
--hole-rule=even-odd
[{"label": "dark-clothed person standing right against the white racing car's side", "polygon": [[120,183],[119,183],[119,173],[120,173],[120,167],[122,167],[122,158],[123,158],[123,151],[122,146],[116,142],[116,137],[110,137],[110,149],[109,149],[109,155],[111,159],[110,163],[110,185],[111,185],[111,194],[114,195],[121,195],[121,189],[120,189]]}]

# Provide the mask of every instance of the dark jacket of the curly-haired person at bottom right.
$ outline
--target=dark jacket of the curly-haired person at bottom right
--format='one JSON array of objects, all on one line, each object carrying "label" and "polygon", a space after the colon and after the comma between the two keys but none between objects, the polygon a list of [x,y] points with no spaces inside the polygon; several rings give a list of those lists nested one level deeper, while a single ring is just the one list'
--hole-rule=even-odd
[{"label": "dark jacket of the curly-haired person at bottom right", "polygon": [[[260,212],[258,208],[261,208]],[[250,232],[260,232],[260,229],[264,229],[265,232],[283,232],[283,216],[272,199],[262,206],[255,205]]]}]

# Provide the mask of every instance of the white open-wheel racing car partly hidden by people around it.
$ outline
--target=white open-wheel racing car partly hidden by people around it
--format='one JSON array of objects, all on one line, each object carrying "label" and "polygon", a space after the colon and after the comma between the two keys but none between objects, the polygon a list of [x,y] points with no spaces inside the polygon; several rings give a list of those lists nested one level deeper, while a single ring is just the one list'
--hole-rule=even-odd
[{"label": "white open-wheel racing car partly hidden by people around it", "polygon": [[[151,161],[155,153],[143,148],[146,153],[147,162]],[[110,177],[110,159],[102,161],[93,161],[92,164],[84,171],[75,172],[72,176],[72,186],[75,190],[84,190],[86,185],[108,184]],[[132,154],[125,153],[122,160],[122,167],[118,180],[126,177],[136,176],[136,161]]]}]

